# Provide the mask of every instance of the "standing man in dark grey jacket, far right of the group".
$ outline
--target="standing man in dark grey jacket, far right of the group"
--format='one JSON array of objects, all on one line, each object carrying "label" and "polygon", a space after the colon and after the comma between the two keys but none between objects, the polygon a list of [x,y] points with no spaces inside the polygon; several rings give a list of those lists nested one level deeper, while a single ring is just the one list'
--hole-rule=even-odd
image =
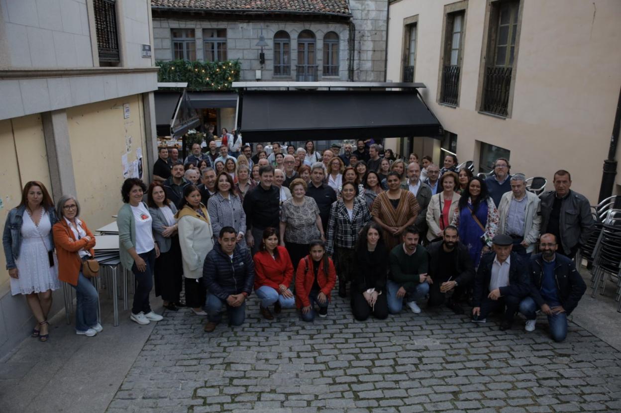
[{"label": "standing man in dark grey jacket, far right of the group", "polygon": [[580,245],[584,245],[593,229],[589,200],[572,191],[571,175],[566,170],[554,174],[554,191],[546,191],[539,198],[544,234],[550,232],[560,245],[559,252],[573,259]]}]

